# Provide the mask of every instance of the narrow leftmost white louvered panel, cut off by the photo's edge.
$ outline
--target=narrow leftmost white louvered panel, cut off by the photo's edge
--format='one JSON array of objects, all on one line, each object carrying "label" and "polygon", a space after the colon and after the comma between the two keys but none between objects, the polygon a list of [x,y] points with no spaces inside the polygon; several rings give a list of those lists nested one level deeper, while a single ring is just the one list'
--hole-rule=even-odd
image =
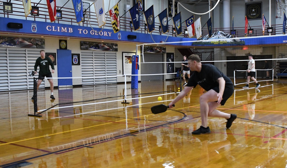
[{"label": "narrow leftmost white louvered panel, cut off by the photo's edge", "polygon": [[0,49],[0,91],[9,90],[7,49]]}]

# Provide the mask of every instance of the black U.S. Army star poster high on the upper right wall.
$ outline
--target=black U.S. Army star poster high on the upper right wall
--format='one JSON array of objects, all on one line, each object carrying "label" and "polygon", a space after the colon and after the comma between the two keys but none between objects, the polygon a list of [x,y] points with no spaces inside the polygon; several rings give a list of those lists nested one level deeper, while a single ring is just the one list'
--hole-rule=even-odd
[{"label": "black U.S. Army star poster high on the upper right wall", "polygon": [[262,2],[245,3],[245,15],[248,20],[262,19]]}]

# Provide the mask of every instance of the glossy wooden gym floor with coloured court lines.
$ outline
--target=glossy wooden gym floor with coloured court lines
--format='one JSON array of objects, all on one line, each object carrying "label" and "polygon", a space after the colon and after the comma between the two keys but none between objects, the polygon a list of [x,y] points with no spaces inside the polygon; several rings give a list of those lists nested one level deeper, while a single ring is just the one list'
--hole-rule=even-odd
[{"label": "glossy wooden gym floor with coloured court lines", "polygon": [[[201,125],[199,96],[204,90],[198,86],[161,114],[152,114],[150,107],[168,104],[175,94],[162,96],[162,102],[154,96],[131,104],[53,109],[42,117],[29,117],[32,90],[0,92],[0,167],[283,168],[287,80],[259,83],[259,89],[234,87],[234,95],[218,110],[238,118],[230,129],[224,118],[208,118],[208,135],[191,134]],[[167,85],[178,87],[170,81],[153,88]],[[57,101],[59,95],[55,97]],[[49,96],[46,102],[53,105]]]}]

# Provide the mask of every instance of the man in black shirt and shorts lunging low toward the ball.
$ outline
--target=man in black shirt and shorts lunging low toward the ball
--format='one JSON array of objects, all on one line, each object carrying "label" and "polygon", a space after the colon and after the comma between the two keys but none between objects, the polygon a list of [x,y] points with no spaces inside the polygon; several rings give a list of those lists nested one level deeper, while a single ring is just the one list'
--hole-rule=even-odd
[{"label": "man in black shirt and shorts lunging low toward the ball", "polygon": [[210,133],[210,129],[207,126],[208,116],[226,118],[226,128],[231,127],[232,122],[237,117],[236,114],[227,114],[216,110],[216,108],[219,105],[223,106],[233,94],[233,83],[214,65],[201,64],[199,56],[193,54],[187,60],[190,70],[194,71],[194,73],[182,92],[168,104],[169,108],[172,108],[173,104],[181,100],[192,88],[199,84],[207,92],[200,96],[201,126],[193,131],[192,134]]}]

